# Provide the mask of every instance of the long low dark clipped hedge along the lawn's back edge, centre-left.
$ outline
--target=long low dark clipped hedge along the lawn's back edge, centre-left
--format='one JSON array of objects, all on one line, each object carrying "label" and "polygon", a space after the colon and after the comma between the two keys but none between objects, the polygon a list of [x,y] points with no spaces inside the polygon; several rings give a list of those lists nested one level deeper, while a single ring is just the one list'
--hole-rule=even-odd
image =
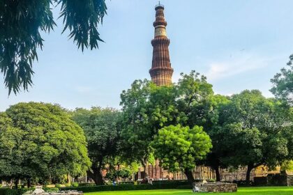
[{"label": "long low dark clipped hedge along the lawn's back edge, centre-left", "polygon": [[181,182],[180,185],[175,183],[163,184],[142,184],[142,185],[98,185],[89,187],[61,187],[61,191],[77,190],[79,192],[103,192],[103,191],[128,191],[128,190],[145,190],[145,189],[192,189],[191,185]]}]

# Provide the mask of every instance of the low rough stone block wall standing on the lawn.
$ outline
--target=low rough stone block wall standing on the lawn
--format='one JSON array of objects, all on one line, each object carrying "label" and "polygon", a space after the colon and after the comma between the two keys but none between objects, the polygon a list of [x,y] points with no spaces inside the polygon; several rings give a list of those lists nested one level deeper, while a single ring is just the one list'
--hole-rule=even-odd
[{"label": "low rough stone block wall standing on the lawn", "polygon": [[237,185],[225,182],[193,183],[193,192],[237,192]]}]

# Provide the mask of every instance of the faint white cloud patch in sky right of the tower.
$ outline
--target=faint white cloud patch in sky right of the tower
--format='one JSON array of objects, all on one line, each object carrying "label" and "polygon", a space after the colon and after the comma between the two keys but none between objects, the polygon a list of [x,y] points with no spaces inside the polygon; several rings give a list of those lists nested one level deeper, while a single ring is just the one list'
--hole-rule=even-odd
[{"label": "faint white cloud patch in sky right of the tower", "polygon": [[222,79],[238,75],[243,72],[249,72],[260,68],[265,68],[273,59],[271,57],[255,56],[253,54],[236,54],[230,56],[225,61],[212,62],[209,70],[204,74],[210,80]]}]

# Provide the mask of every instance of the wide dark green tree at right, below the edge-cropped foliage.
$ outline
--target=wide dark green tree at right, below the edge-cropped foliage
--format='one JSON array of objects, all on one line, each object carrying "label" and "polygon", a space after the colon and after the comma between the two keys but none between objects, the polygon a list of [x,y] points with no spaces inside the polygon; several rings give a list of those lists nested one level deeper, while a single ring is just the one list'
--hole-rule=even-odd
[{"label": "wide dark green tree at right, below the edge-cropped foliage", "polygon": [[228,150],[222,160],[230,166],[247,166],[246,180],[257,166],[273,168],[292,155],[292,110],[264,98],[260,91],[233,95],[219,126],[218,134],[225,134],[222,147]]}]

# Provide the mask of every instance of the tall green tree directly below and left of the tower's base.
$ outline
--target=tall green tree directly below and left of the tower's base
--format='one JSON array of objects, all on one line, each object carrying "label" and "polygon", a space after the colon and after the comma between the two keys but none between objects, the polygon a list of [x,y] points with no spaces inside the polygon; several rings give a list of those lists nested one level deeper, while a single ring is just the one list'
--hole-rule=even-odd
[{"label": "tall green tree directly below and left of the tower's base", "polygon": [[139,162],[144,166],[152,156],[149,144],[154,135],[164,125],[174,123],[176,109],[174,107],[174,88],[172,86],[156,86],[150,81],[134,81],[131,88],[121,93],[123,111],[123,154],[129,162]]}]

